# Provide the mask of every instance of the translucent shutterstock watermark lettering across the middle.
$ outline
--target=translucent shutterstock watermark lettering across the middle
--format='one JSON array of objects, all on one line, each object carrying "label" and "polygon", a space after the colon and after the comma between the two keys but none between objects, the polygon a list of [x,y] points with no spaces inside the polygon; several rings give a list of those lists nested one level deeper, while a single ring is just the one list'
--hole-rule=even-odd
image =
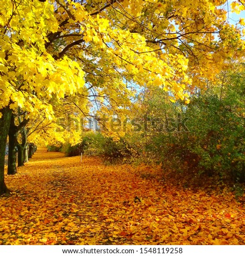
[{"label": "translucent shutterstock watermark lettering across the middle", "polygon": [[188,132],[186,122],[188,117],[183,117],[180,113],[175,117],[151,117],[144,115],[135,118],[108,117],[104,114],[102,117],[73,118],[68,115],[67,118],[57,119],[57,132],[75,130],[78,131],[112,131],[112,132]]}]

